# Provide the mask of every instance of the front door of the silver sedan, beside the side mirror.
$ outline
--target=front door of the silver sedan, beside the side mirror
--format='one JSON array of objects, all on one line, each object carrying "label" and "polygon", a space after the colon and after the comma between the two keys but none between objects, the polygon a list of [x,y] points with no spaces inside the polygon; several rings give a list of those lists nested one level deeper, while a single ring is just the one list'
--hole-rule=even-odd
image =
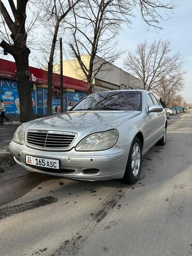
[{"label": "front door of the silver sedan, beside the side mirror", "polygon": [[158,105],[158,103],[154,103],[152,100],[152,96],[149,92],[145,95],[146,100],[146,123],[144,125],[144,137],[145,137],[145,149],[144,151],[148,151],[150,147],[152,147],[160,138],[160,127],[161,122],[159,120],[159,113],[149,113],[148,107],[152,105]]}]

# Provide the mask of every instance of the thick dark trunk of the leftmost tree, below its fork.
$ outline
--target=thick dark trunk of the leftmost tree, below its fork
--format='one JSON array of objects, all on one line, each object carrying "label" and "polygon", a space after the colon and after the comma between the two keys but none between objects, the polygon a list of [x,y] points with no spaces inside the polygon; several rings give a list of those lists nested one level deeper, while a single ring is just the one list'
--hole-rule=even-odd
[{"label": "thick dark trunk of the leftmost tree, below its fork", "polygon": [[30,50],[26,48],[18,57],[15,57],[21,122],[28,122],[34,119],[29,73],[29,53]]}]

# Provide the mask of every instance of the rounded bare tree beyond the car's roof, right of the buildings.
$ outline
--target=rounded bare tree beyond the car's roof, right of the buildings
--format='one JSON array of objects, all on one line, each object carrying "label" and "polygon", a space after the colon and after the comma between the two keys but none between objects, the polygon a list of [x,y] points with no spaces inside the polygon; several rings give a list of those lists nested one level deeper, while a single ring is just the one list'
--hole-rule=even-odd
[{"label": "rounded bare tree beyond the car's roof, right of the buildings", "polygon": [[174,74],[181,77],[182,61],[180,53],[171,54],[170,41],[159,40],[148,44],[146,41],[136,46],[136,49],[128,52],[125,59],[125,67],[143,81],[144,89],[154,89],[159,86],[162,79],[170,79]]}]

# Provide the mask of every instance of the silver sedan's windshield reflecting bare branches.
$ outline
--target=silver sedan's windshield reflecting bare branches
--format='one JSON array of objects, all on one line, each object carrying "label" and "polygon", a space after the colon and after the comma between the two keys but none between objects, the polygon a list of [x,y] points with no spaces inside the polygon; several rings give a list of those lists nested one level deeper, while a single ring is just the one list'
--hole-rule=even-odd
[{"label": "silver sedan's windshield reflecting bare branches", "polygon": [[93,93],[73,107],[79,110],[135,110],[141,111],[140,91],[105,91]]}]

